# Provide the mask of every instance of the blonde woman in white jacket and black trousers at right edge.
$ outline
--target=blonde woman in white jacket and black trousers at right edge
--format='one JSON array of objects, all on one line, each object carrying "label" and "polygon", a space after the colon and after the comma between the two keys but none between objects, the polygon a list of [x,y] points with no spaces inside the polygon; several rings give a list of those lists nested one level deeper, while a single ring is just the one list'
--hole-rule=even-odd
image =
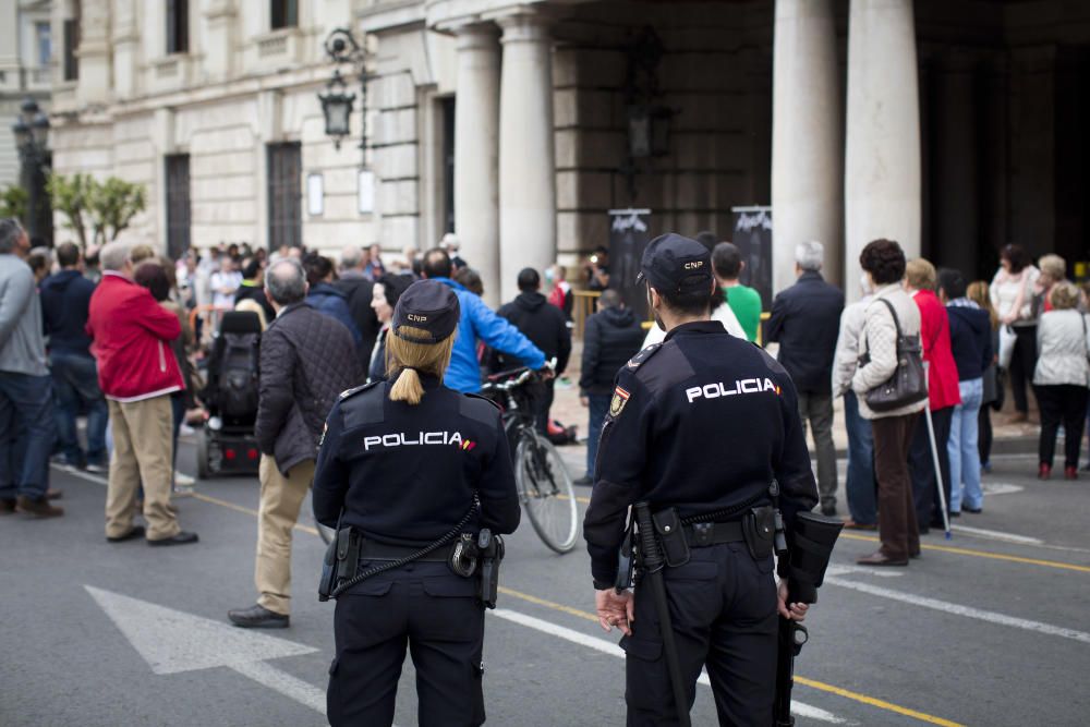
[{"label": "blonde woman in white jacket and black trousers at right edge", "polygon": [[1041,316],[1037,329],[1038,359],[1033,389],[1041,407],[1040,469],[1038,476],[1052,475],[1056,432],[1064,425],[1064,477],[1078,477],[1079,447],[1090,397],[1090,362],[1087,355],[1087,319],[1078,311],[1079,289],[1069,282],[1052,289],[1052,310]]}]

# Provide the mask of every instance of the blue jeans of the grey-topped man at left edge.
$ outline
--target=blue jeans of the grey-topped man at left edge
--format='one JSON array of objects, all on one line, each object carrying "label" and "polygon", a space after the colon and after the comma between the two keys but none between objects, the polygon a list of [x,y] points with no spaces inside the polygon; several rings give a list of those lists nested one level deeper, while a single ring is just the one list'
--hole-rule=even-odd
[{"label": "blue jeans of the grey-topped man at left edge", "polygon": [[0,498],[46,496],[56,426],[48,375],[0,372]]}]

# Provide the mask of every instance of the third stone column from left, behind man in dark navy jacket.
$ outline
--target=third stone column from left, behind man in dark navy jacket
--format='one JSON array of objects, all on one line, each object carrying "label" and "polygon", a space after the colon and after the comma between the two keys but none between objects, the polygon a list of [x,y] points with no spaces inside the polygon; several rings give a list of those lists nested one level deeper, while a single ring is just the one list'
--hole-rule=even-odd
[{"label": "third stone column from left, behind man in dark navy jacket", "polygon": [[795,247],[825,245],[841,283],[844,146],[832,0],[776,0],[772,97],[773,291],[795,282]]}]

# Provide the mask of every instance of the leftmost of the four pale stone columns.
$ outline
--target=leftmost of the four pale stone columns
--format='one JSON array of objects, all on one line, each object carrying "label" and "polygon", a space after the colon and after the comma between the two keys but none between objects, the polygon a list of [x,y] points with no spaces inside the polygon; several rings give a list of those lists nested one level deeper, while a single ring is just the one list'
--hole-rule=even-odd
[{"label": "leftmost of the four pale stone columns", "polygon": [[499,34],[492,24],[465,25],[458,37],[455,99],[455,226],[462,257],[500,303],[499,277]]}]

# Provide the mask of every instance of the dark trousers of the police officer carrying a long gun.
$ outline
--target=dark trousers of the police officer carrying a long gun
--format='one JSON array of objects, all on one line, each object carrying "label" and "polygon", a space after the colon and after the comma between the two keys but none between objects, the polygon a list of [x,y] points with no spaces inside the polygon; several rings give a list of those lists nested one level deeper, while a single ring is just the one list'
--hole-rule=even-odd
[{"label": "dark trousers of the police officer carrying a long gun", "polygon": [[[664,571],[687,706],[706,665],[720,725],[771,725],[779,627],[772,557],[755,562],[744,543],[691,554],[687,565]],[[629,727],[677,725],[650,586],[637,585],[632,635],[620,645]]]}]

